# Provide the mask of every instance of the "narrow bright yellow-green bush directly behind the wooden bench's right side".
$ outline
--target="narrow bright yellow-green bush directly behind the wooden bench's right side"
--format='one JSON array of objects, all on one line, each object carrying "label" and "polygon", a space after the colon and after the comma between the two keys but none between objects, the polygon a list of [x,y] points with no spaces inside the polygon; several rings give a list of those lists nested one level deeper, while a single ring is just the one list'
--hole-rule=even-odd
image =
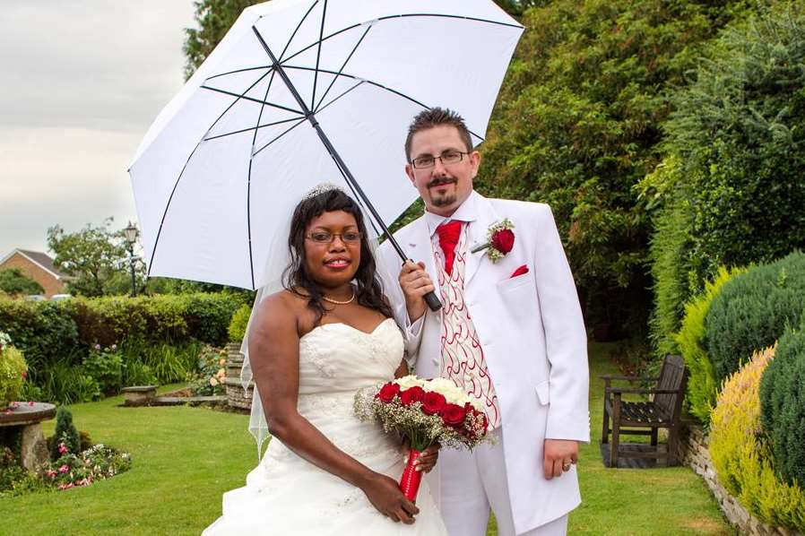
[{"label": "narrow bright yellow-green bush directly behind the wooden bench's right side", "polygon": [[690,405],[690,414],[705,426],[710,424],[710,414],[718,394],[718,382],[715,380],[713,361],[710,360],[705,347],[705,318],[707,311],[710,310],[710,303],[719,293],[723,284],[730,281],[733,276],[745,271],[720,268],[714,281],[705,283],[705,291],[685,306],[682,327],[679,333],[674,335],[674,340],[679,345],[679,352],[688,367],[686,400]]}]

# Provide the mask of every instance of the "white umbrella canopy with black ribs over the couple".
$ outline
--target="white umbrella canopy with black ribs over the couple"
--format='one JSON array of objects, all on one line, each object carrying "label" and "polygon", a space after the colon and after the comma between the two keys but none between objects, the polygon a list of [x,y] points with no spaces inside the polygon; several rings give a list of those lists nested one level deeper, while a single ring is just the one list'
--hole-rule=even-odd
[{"label": "white umbrella canopy with black ribs over the couple", "polygon": [[149,275],[263,286],[294,206],[323,181],[355,193],[354,177],[394,220],[417,197],[411,118],[452,108],[480,143],[522,31],[489,0],[247,8],[129,169]]}]

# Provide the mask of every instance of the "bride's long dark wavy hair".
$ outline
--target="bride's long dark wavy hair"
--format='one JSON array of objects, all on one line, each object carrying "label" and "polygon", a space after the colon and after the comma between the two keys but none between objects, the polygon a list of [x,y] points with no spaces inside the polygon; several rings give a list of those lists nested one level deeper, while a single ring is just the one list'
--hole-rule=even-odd
[{"label": "bride's long dark wavy hair", "polygon": [[[314,218],[325,212],[343,211],[352,214],[358,222],[358,230],[363,239],[360,241],[360,264],[355,272],[355,298],[364,307],[379,311],[383,316],[393,316],[392,309],[385,300],[380,282],[377,280],[377,264],[368,246],[366,225],[358,203],[342,190],[327,190],[303,200],[297,205],[290,220],[290,234],[288,248],[290,250],[290,264],[282,272],[282,284],[297,296],[307,299],[307,307],[316,312],[316,324],[325,315],[325,302],[323,292],[310,277],[306,268],[305,231],[307,225]],[[304,290],[304,292],[302,291]]]}]

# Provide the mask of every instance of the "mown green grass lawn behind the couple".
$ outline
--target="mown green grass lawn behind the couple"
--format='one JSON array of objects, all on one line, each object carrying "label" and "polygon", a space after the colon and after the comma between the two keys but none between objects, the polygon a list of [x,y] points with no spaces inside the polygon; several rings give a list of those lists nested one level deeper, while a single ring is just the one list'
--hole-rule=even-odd
[{"label": "mown green grass lawn behind the couple", "polygon": [[[602,387],[610,346],[591,347],[593,443],[579,474],[584,502],[570,534],[730,534],[703,480],[685,468],[608,470],[601,462]],[[198,534],[221,494],[256,463],[247,416],[204,408],[122,408],[121,397],[76,404],[78,428],[132,454],[133,468],[89,488],[0,499],[0,534]],[[45,428],[52,433],[53,421]],[[489,534],[497,534],[491,527]]]}]

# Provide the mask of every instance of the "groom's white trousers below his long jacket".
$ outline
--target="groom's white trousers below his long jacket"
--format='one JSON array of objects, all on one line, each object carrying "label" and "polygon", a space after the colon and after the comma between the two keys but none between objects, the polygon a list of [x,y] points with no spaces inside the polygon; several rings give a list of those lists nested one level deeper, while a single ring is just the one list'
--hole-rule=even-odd
[{"label": "groom's white trousers below his long jacket", "polygon": [[497,445],[484,443],[474,451],[439,452],[437,500],[450,536],[485,536],[489,511],[495,513],[499,536],[564,536],[567,514],[532,531],[516,534],[506,484],[506,461],[500,428],[490,432]]}]

